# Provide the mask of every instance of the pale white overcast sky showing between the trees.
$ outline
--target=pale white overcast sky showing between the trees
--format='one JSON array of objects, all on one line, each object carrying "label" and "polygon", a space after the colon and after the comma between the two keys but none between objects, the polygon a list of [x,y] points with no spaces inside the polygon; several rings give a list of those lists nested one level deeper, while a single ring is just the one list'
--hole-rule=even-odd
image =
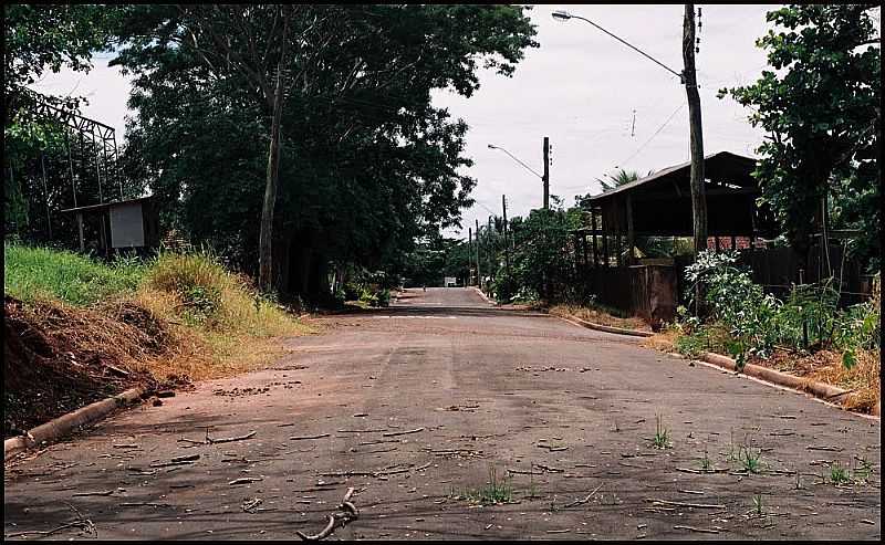
[{"label": "pale white overcast sky showing between the trees", "polygon": [[[467,238],[475,219],[500,213],[524,216],[542,205],[541,180],[489,144],[507,148],[533,169],[542,170],[542,139],[550,137],[550,192],[571,206],[574,196],[598,192],[595,178],[617,167],[638,170],[688,160],[688,106],[678,77],[584,21],[559,22],[554,10],[591,19],[679,72],[683,67],[684,7],[675,6],[535,6],[530,15],[540,48],[527,51],[513,77],[480,75],[470,98],[450,92],[434,94],[437,106],[470,126],[466,155],[475,165],[477,205],[464,211]],[[761,133],[747,122],[748,111],[730,98],[718,99],[722,86],[746,84],[766,66],[756,40],[768,29],[772,6],[702,6],[698,83],[704,118],[705,154],[729,150],[752,155]],[[92,72],[49,74],[37,91],[86,96],[83,109],[117,129],[123,139],[129,84],[111,55],[95,59]],[[634,128],[635,114],[635,128]],[[669,120],[668,120],[669,119]]]}]

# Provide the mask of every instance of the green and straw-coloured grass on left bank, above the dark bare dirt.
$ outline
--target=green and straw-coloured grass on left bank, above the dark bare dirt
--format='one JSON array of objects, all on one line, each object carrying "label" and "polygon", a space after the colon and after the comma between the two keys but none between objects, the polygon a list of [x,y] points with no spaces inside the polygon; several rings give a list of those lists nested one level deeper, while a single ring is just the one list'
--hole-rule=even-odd
[{"label": "green and straw-coloured grass on left bank, above the dark bare dirt", "polygon": [[29,322],[160,382],[256,368],[283,350],[277,337],[310,331],[202,253],[105,264],[7,243],[3,258],[3,292],[23,303]]}]

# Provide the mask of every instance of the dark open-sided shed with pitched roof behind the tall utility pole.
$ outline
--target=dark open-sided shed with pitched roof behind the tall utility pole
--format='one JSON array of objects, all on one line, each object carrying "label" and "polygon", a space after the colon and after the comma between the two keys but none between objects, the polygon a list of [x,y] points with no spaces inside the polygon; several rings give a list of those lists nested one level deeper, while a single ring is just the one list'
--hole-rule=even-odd
[{"label": "dark open-sided shed with pitched roof behind the tall utility pole", "polygon": [[[756,199],[756,161],[728,151],[704,159],[709,245],[752,249],[773,233],[771,214]],[[639,315],[653,327],[675,317],[680,270],[674,259],[637,255],[638,237],[691,237],[690,163],[591,197],[591,229],[576,233],[579,265],[600,303]],[[601,222],[601,224],[597,224]],[[587,237],[591,237],[590,250]],[[749,243],[747,243],[749,242]]]}]

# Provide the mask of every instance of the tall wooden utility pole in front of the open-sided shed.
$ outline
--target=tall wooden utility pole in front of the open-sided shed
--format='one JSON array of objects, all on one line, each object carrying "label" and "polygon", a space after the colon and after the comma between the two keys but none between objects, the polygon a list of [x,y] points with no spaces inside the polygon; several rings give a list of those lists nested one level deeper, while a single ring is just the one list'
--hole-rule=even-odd
[{"label": "tall wooden utility pole in front of the open-sided shed", "polygon": [[694,219],[695,253],[707,248],[707,197],[704,187],[704,132],[700,122],[700,95],[695,73],[695,4],[685,4],[683,21],[683,83],[688,96],[688,120],[691,149],[691,214]]}]

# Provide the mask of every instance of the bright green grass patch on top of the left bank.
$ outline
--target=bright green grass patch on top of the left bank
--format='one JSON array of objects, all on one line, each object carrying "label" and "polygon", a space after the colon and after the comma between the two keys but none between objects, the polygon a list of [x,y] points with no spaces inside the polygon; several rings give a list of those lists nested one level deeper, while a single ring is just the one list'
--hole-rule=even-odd
[{"label": "bright green grass patch on top of the left bank", "polygon": [[134,260],[108,265],[69,251],[3,244],[3,293],[25,302],[88,306],[135,293],[145,271]]}]

